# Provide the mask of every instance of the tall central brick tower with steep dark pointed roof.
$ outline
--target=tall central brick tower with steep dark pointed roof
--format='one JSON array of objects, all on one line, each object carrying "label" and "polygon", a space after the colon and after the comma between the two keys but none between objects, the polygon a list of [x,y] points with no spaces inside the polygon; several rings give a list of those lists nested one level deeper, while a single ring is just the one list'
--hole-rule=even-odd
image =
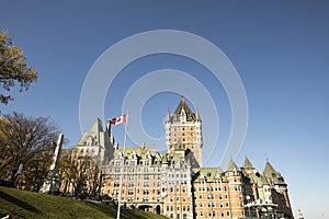
[{"label": "tall central brick tower with steep dark pointed roof", "polygon": [[166,146],[169,153],[192,152],[195,163],[202,166],[202,120],[198,112],[193,113],[182,96],[178,107],[166,119]]}]

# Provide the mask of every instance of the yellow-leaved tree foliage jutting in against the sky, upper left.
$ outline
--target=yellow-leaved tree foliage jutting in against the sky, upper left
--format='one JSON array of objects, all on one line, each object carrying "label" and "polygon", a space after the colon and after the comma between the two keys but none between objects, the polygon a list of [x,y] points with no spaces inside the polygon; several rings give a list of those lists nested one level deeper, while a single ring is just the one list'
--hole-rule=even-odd
[{"label": "yellow-leaved tree foliage jutting in against the sky, upper left", "polygon": [[0,32],[0,103],[8,104],[13,97],[8,92],[19,84],[20,92],[36,81],[37,72],[27,68],[22,49],[13,46],[7,32]]}]

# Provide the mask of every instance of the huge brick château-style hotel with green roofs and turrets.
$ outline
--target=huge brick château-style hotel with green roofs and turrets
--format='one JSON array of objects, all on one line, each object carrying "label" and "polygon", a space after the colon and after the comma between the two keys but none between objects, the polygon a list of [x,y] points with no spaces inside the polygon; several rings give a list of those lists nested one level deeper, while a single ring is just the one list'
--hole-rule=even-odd
[{"label": "huge brick ch\u00e2teau-style hotel with green roofs and turrets", "polygon": [[[173,114],[168,112],[166,145],[166,153],[144,143],[124,151],[114,141],[109,122],[103,130],[97,119],[73,148],[71,158],[93,158],[101,170],[95,176],[95,166],[86,170],[80,164],[87,175],[87,193],[98,191],[114,204],[121,197],[125,207],[175,219],[293,218],[287,184],[269,161],[263,172],[257,172],[248,158],[241,166],[230,160],[226,170],[203,168],[201,116],[191,111],[184,97]],[[68,180],[61,191],[76,194],[77,183]]]}]

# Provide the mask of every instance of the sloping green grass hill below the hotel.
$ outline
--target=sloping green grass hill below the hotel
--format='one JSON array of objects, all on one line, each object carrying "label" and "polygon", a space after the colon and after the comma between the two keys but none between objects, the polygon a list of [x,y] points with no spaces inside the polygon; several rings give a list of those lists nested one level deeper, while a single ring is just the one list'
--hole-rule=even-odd
[{"label": "sloping green grass hill below the hotel", "polygon": [[[110,205],[0,187],[0,218],[13,212],[13,218],[116,218]],[[121,218],[166,219],[139,210],[122,210]]]}]

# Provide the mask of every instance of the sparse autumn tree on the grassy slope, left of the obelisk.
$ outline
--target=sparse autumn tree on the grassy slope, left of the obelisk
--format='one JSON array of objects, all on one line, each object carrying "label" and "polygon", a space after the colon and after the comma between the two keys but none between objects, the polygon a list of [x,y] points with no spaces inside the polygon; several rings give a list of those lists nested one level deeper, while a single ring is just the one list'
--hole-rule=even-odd
[{"label": "sparse autumn tree on the grassy slope, left of the obelisk", "polygon": [[29,171],[41,171],[38,165],[48,162],[39,159],[50,160],[58,134],[58,127],[46,117],[25,117],[16,112],[4,115],[0,119],[0,177],[15,182],[20,164],[26,178]]}]

